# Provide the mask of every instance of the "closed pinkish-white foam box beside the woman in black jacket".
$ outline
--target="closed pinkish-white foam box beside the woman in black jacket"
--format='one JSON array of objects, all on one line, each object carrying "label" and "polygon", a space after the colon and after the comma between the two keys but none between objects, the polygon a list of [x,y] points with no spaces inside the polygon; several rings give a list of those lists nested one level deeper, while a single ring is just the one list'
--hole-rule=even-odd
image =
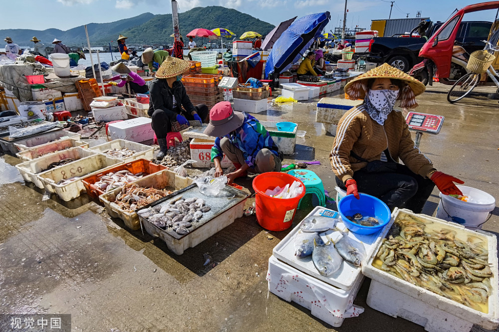
[{"label": "closed pinkish-white foam box beside the woman in black jacket", "polygon": [[108,132],[111,140],[122,139],[132,142],[144,142],[154,138],[154,131],[151,127],[151,118],[139,117],[112,123]]}]

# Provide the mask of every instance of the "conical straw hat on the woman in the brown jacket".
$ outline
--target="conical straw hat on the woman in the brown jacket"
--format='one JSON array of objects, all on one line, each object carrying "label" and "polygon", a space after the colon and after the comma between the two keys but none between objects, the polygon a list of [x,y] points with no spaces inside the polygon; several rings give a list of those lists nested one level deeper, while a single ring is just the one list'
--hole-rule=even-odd
[{"label": "conical straw hat on the woman in the brown jacket", "polygon": [[368,72],[354,78],[345,85],[345,93],[349,99],[364,99],[366,91],[369,90],[367,81],[370,78],[393,78],[404,81],[414,93],[414,97],[425,92],[426,88],[423,83],[414,77],[404,73],[403,71],[383,63],[381,66],[373,68]]}]

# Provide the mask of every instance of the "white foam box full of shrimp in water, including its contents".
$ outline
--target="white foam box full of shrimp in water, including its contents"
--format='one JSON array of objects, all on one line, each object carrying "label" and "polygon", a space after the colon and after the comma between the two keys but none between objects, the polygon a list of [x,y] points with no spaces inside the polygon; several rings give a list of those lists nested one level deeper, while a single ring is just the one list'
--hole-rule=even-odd
[{"label": "white foam box full of shrimp in water, including its contents", "polygon": [[406,209],[362,267],[367,304],[429,332],[499,326],[497,238]]}]

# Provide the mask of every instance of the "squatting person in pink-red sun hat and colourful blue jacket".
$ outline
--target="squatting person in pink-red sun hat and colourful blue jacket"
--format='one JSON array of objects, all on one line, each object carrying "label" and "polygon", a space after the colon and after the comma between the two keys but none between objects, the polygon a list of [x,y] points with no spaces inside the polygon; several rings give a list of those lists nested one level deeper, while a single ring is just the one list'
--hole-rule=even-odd
[{"label": "squatting person in pink-red sun hat and colourful blue jacket", "polygon": [[224,154],[236,170],[227,174],[228,183],[246,176],[248,170],[265,173],[281,169],[279,150],[258,120],[247,113],[235,112],[231,103],[216,104],[210,111],[210,124],[204,133],[216,137],[212,147],[215,177],[224,174],[220,165]]}]

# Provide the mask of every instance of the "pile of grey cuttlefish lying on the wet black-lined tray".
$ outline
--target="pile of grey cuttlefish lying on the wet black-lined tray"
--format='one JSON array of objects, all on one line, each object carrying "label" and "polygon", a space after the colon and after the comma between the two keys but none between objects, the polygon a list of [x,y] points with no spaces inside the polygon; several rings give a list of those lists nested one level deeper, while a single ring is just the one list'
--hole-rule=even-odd
[{"label": "pile of grey cuttlefish lying on the wet black-lined tray", "polygon": [[204,199],[191,197],[182,199],[179,195],[161,204],[141,210],[138,214],[150,223],[162,228],[170,228],[180,235],[190,232],[203,218],[203,213],[210,211]]}]

